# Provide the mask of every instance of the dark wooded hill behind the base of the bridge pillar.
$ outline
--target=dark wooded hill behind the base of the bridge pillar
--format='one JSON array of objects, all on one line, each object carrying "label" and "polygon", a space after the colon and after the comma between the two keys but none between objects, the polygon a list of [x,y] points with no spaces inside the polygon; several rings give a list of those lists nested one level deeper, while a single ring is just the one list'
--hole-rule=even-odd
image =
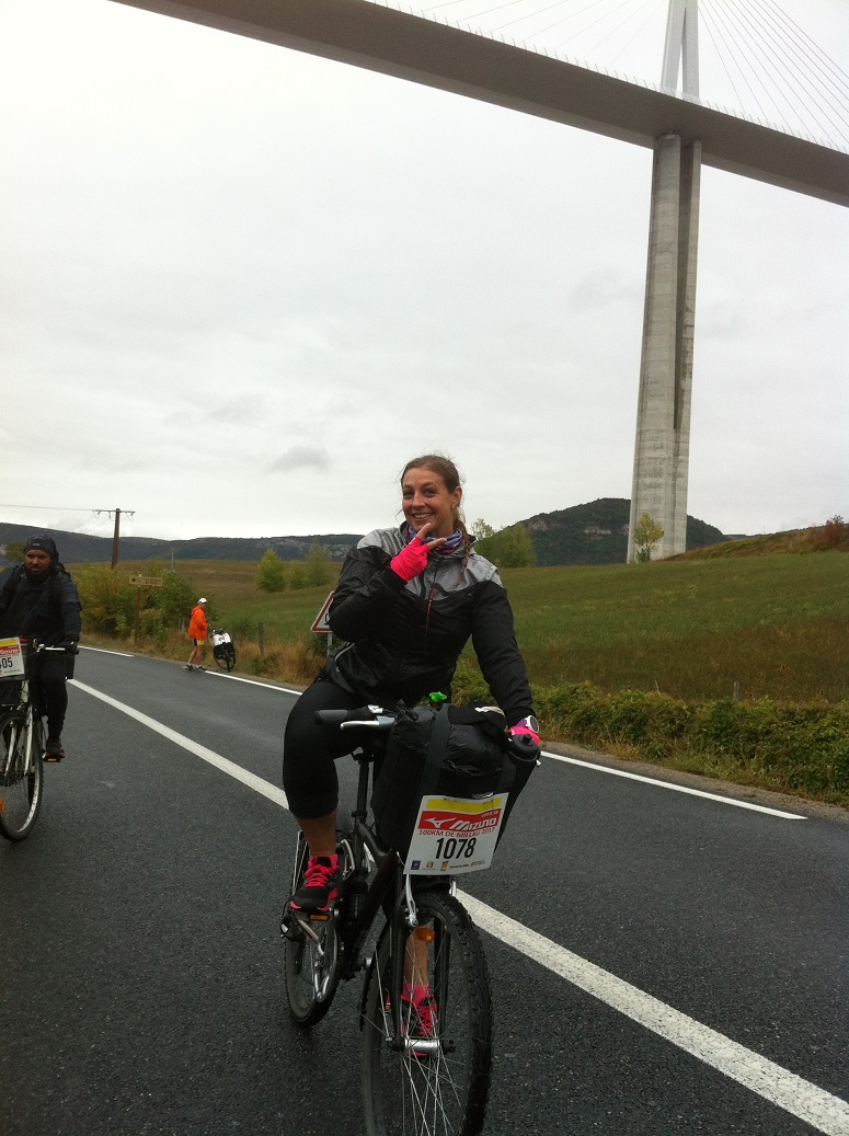
[{"label": "dark wooded hill behind the base of the bridge pillar", "polygon": [[[571,509],[538,513],[523,524],[531,534],[540,567],[621,565],[627,556],[630,516],[627,498],[599,498]],[[688,516],[688,551],[726,540],[718,528]]]}]

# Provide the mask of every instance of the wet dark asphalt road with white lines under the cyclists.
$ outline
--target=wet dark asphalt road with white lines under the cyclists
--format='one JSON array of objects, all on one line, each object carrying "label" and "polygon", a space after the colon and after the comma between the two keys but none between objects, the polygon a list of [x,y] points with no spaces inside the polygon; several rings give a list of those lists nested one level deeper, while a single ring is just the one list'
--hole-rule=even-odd
[{"label": "wet dark asphalt road with white lines under the cyclists", "polygon": [[[360,983],[311,1034],[285,1008],[297,692],[94,651],[75,682],[39,822],[0,842],[0,1136],[358,1136]],[[847,1136],[849,826],[626,771],[558,747],[463,883],[485,1133]]]}]

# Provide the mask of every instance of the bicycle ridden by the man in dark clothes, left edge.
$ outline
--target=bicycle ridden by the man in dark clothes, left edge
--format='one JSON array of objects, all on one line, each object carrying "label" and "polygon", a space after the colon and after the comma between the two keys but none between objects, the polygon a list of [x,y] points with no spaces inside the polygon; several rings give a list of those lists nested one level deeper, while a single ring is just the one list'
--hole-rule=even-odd
[{"label": "bicycle ridden by the man in dark clothes, left edge", "polygon": [[35,667],[45,646],[35,640],[0,641],[0,679],[14,701],[0,710],[0,835],[23,841],[32,832],[44,787],[47,724],[39,703]]}]

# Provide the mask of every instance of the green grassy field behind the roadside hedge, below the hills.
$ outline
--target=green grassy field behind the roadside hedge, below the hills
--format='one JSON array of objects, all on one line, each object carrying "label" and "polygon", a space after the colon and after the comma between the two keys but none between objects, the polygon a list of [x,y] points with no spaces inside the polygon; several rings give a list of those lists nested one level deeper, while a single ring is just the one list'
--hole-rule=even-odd
[{"label": "green grassy field behind the roadside hedge, below the hills", "polygon": [[[142,565],[122,565],[144,571]],[[210,619],[268,646],[307,642],[332,583],[266,593],[256,565],[183,561]],[[680,699],[849,698],[849,557],[774,556],[502,571],[531,682]],[[324,641],[322,641],[324,642]],[[282,675],[294,679],[297,676]]]}]

